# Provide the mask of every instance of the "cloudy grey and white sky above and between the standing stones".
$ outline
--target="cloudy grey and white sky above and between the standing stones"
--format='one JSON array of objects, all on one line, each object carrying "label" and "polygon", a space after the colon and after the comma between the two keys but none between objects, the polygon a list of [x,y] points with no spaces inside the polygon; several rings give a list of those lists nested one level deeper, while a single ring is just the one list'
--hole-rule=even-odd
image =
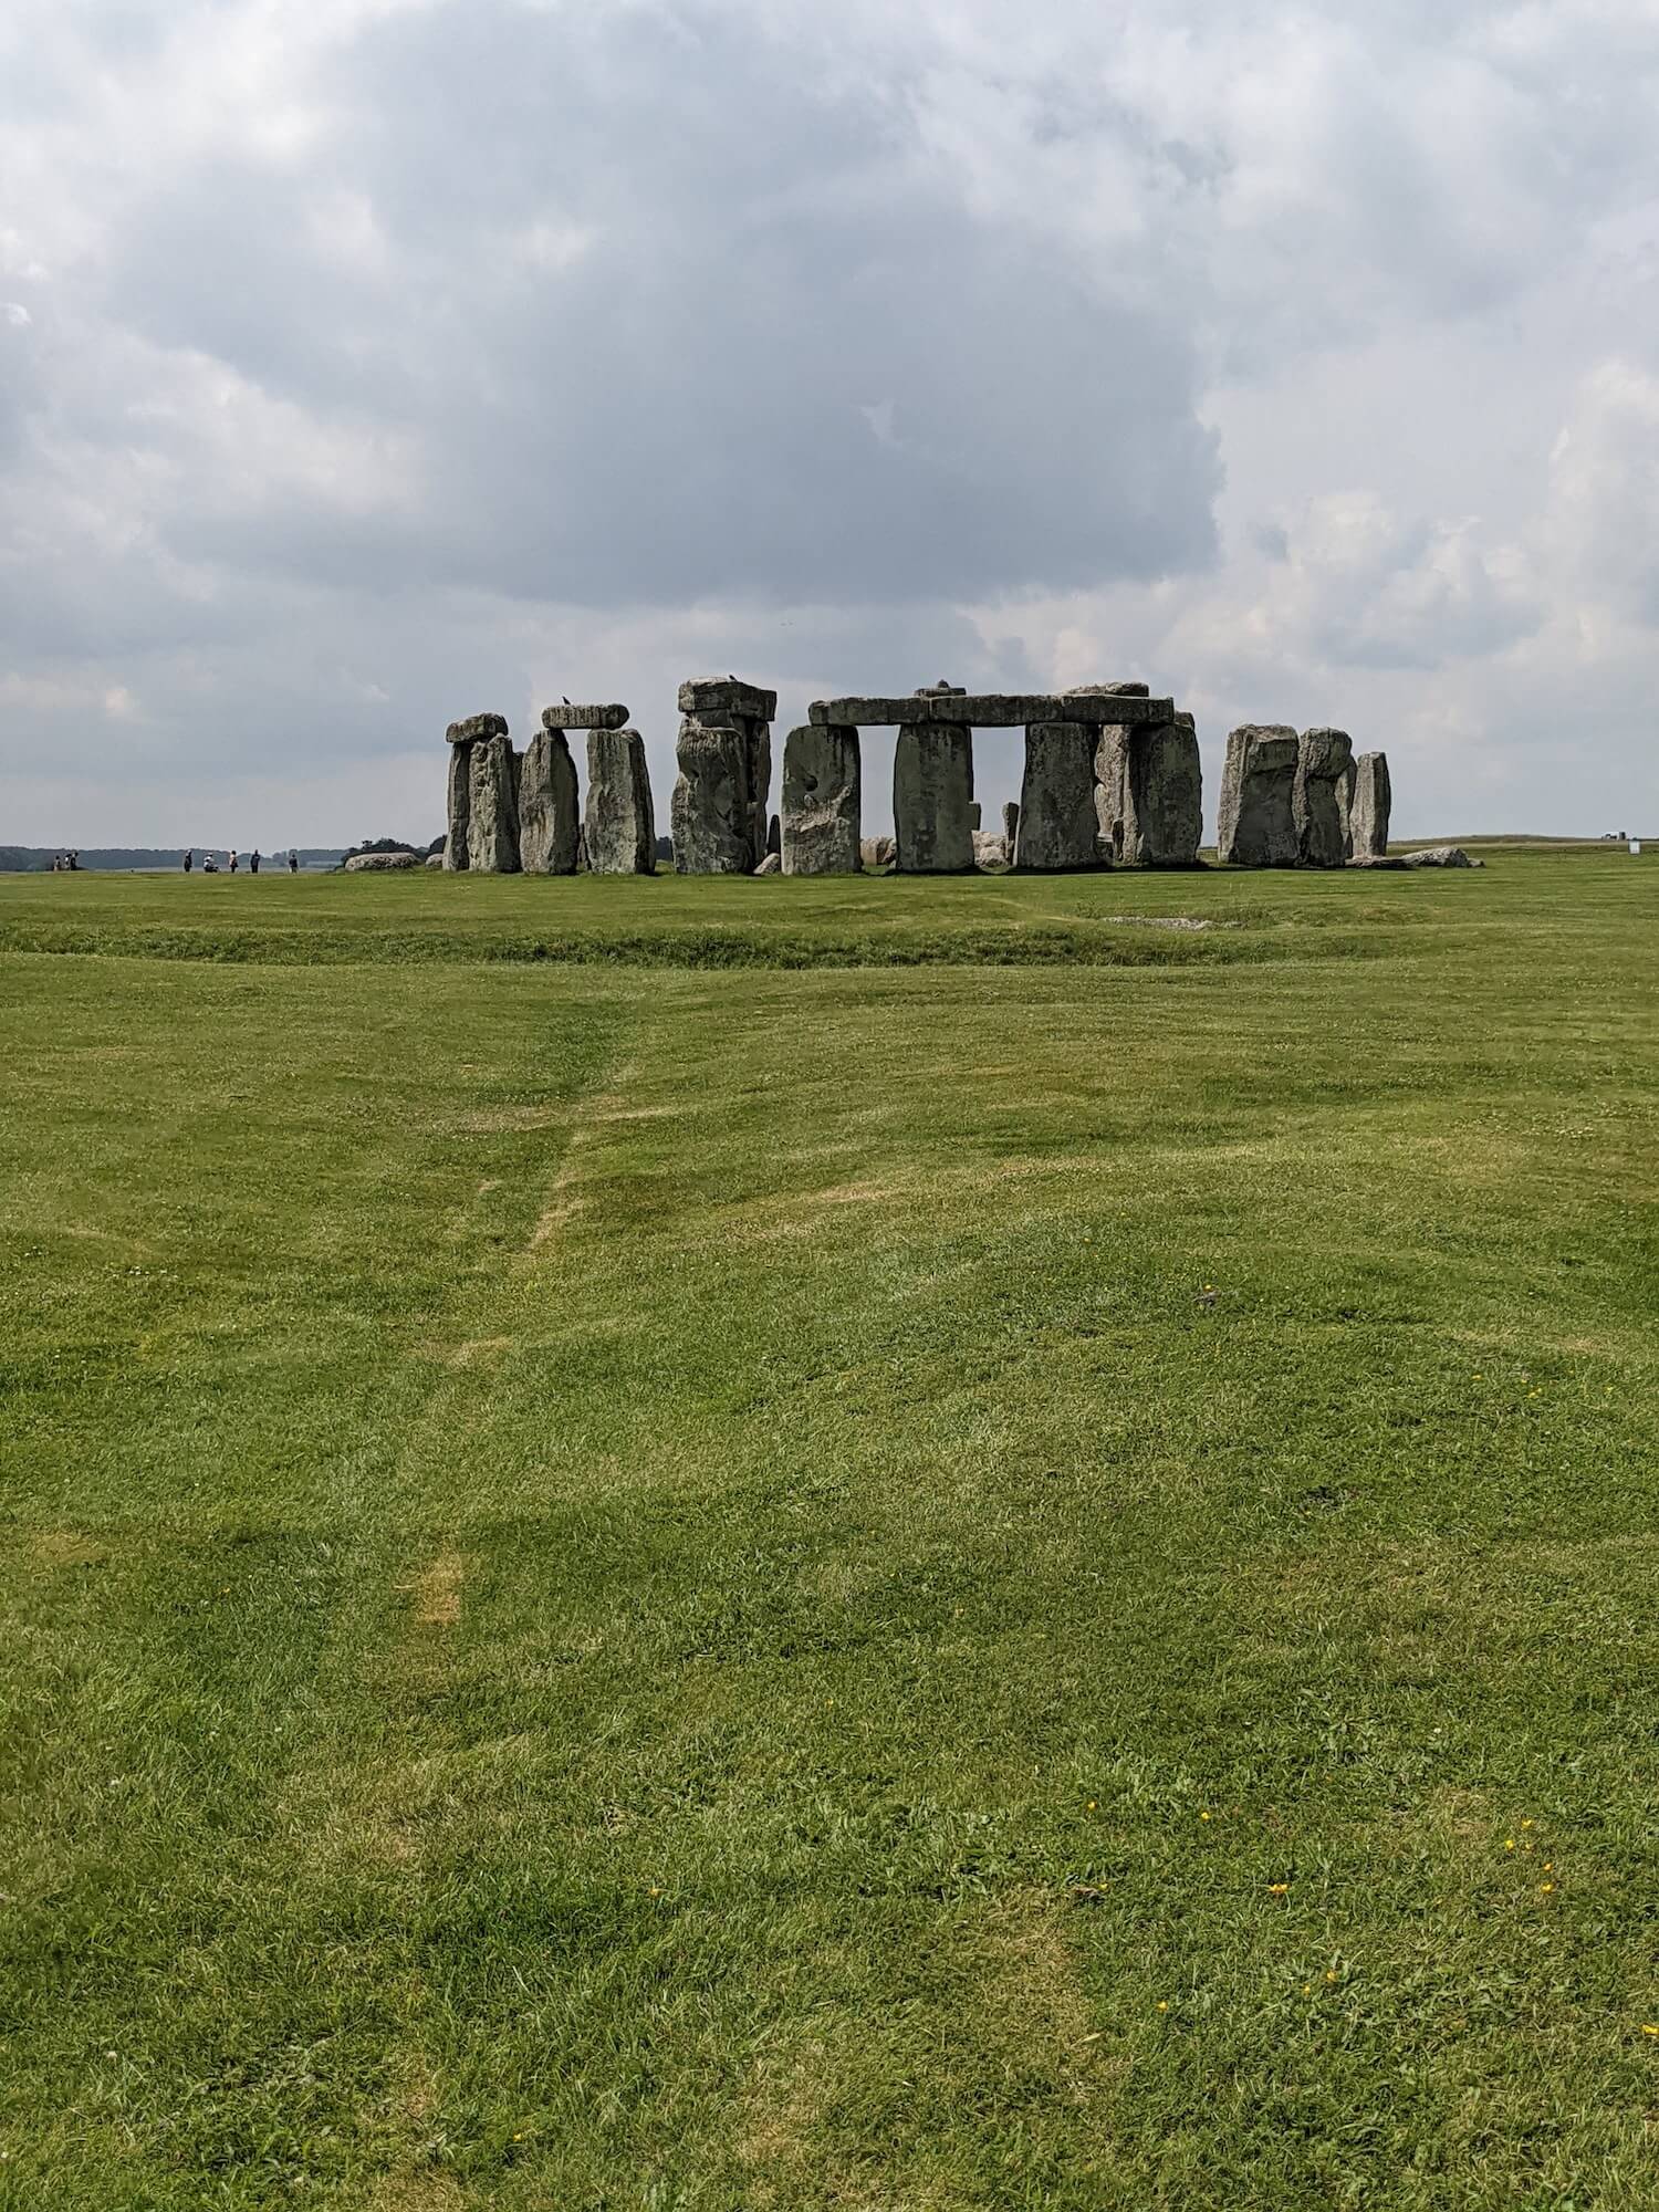
[{"label": "cloudy grey and white sky above and between the standing stones", "polygon": [[666,827],[728,670],[1659,834],[1659,9],[7,0],[0,478],[0,843],[427,838],[560,695]]}]

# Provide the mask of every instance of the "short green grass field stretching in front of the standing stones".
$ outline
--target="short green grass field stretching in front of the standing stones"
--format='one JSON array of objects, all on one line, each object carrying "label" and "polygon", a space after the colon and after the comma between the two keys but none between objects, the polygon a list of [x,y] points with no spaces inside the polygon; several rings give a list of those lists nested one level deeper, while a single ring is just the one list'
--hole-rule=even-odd
[{"label": "short green grass field stretching in front of the standing stones", "polygon": [[4,878],[0,1106],[2,2203],[1652,2205],[1659,860]]}]

